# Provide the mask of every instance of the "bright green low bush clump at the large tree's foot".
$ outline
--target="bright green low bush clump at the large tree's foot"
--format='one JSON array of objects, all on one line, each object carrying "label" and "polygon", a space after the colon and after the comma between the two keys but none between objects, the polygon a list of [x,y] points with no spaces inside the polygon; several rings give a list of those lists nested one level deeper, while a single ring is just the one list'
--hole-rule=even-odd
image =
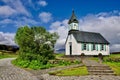
[{"label": "bright green low bush clump at the large tree's foot", "polygon": [[12,63],[22,68],[31,68],[34,70],[51,67],[51,65],[48,64],[48,59],[40,55],[35,57],[30,54],[26,54],[25,56],[18,57],[16,60],[13,60]]}]

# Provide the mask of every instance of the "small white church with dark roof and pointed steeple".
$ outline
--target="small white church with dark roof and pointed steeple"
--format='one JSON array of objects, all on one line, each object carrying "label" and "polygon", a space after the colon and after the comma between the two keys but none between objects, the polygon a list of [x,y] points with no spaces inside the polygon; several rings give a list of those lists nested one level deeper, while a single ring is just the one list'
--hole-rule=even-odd
[{"label": "small white church with dark roof and pointed steeple", "polygon": [[65,42],[65,55],[109,55],[109,42],[100,34],[79,30],[79,22],[74,11],[68,21],[68,36]]}]

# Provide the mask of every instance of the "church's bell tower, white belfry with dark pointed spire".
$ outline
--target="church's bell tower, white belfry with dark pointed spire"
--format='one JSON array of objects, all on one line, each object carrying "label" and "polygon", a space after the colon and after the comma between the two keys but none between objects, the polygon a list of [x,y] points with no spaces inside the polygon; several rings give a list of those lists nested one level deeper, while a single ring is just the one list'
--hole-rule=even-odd
[{"label": "church's bell tower, white belfry with dark pointed spire", "polygon": [[76,16],[75,16],[75,13],[74,13],[74,10],[72,11],[72,16],[71,16],[71,18],[69,19],[69,21],[68,21],[68,28],[69,28],[69,31],[70,30],[79,30],[79,22],[78,22],[78,20],[77,20],[77,18],[76,18]]}]

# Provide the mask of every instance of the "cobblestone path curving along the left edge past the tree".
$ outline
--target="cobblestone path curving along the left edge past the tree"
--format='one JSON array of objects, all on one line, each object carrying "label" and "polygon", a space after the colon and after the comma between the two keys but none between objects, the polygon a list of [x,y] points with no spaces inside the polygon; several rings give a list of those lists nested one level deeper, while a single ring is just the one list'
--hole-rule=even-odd
[{"label": "cobblestone path curving along the left edge past the tree", "polygon": [[38,80],[33,74],[11,64],[14,58],[0,59],[0,80]]}]

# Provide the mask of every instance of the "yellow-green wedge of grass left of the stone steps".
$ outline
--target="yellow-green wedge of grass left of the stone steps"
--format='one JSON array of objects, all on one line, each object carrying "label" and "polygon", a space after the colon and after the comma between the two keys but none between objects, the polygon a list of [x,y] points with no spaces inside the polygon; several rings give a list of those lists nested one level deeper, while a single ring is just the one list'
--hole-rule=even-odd
[{"label": "yellow-green wedge of grass left of the stone steps", "polygon": [[61,71],[49,72],[50,75],[56,76],[84,76],[88,75],[87,68],[85,66],[69,68]]}]

